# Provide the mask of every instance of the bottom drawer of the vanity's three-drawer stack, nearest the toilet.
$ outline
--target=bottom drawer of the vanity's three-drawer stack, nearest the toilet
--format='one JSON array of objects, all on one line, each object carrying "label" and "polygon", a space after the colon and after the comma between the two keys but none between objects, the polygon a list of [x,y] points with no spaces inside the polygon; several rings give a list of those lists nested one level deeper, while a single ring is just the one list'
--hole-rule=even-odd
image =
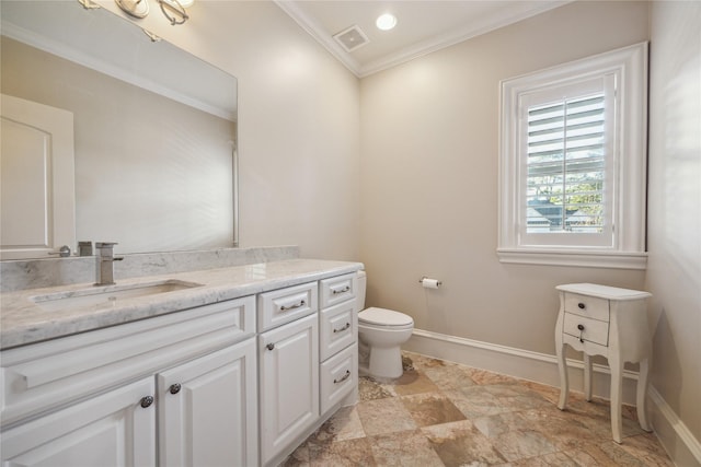
[{"label": "bottom drawer of the vanity's three-drawer stack, nearest the toilet", "polygon": [[358,347],[345,348],[321,364],[321,413],[338,404],[358,385]]}]

